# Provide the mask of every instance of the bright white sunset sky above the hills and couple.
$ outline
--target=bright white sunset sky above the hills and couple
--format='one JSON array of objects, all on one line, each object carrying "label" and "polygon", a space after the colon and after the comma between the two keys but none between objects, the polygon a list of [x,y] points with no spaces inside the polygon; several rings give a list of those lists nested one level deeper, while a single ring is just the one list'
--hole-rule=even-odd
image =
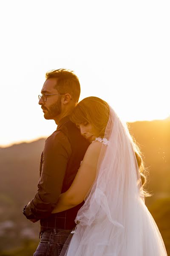
[{"label": "bright white sunset sky above the hills and couple", "polygon": [[125,121],[170,116],[169,0],[0,2],[0,145],[50,135],[38,94],[65,67]]}]

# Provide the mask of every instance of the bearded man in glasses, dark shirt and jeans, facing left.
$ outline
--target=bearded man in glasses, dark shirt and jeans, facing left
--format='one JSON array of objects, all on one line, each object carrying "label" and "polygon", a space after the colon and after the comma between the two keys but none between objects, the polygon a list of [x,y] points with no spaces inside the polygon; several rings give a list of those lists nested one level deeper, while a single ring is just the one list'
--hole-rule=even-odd
[{"label": "bearded man in glasses, dark shirt and jeans, facing left", "polygon": [[57,256],[74,228],[82,206],[51,214],[59,195],[71,186],[89,143],[69,120],[77,105],[80,84],[77,76],[65,69],[46,73],[39,95],[45,119],[54,119],[57,130],[45,141],[40,161],[40,180],[34,199],[23,213],[32,222],[40,220],[40,244],[34,256]]}]

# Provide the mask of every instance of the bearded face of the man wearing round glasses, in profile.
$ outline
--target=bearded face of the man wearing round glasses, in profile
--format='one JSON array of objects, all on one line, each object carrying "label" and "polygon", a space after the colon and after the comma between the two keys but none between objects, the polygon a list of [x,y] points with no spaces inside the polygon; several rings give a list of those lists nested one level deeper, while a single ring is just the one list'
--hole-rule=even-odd
[{"label": "bearded face of the man wearing round glasses, in profile", "polygon": [[[59,93],[57,89],[55,89],[55,85],[57,84],[56,79],[47,79],[42,87],[42,94],[52,94]],[[39,100],[39,104],[41,105],[42,111],[44,112],[45,119],[55,119],[61,111],[61,95],[47,95],[47,101],[44,102],[42,97]]]}]

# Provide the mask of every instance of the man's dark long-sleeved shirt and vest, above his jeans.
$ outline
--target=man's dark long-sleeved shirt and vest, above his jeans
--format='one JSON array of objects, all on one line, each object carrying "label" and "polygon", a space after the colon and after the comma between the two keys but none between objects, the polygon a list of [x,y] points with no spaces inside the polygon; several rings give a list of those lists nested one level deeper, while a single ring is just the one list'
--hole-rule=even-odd
[{"label": "man's dark long-sleeved shirt and vest, above his jeans", "polygon": [[40,160],[40,180],[34,199],[28,204],[28,219],[40,219],[41,231],[52,228],[72,229],[77,207],[51,214],[59,195],[71,186],[89,143],[76,126],[65,116],[45,141]]}]

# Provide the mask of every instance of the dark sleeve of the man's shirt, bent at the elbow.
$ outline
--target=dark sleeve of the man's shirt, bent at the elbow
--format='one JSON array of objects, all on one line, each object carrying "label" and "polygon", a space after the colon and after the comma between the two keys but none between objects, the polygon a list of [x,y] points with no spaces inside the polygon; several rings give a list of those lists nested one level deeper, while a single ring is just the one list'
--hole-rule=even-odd
[{"label": "dark sleeve of the man's shirt, bent at the elbow", "polygon": [[38,191],[26,207],[26,218],[40,219],[51,215],[61,194],[70,156],[71,145],[62,131],[48,137],[42,154],[42,172]]}]

